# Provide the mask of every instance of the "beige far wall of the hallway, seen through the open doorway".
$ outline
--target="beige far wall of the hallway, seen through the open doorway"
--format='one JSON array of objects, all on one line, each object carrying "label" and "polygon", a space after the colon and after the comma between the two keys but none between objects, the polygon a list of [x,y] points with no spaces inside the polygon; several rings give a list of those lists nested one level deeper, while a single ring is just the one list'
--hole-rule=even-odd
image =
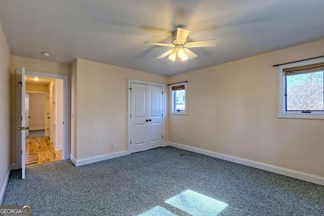
[{"label": "beige far wall of the hallway, seen through the open doorway", "polygon": [[29,94],[29,128],[45,128],[45,93],[28,93]]}]

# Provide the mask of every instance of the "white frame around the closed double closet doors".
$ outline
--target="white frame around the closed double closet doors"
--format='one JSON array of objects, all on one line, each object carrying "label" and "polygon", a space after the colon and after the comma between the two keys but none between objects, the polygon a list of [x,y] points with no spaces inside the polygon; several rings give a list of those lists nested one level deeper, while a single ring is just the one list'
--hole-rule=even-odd
[{"label": "white frame around the closed double closet doors", "polygon": [[162,117],[162,121],[163,121],[163,147],[166,146],[166,142],[165,142],[165,119],[166,119],[166,106],[165,106],[165,101],[166,101],[166,91],[165,91],[165,87],[166,85],[163,83],[158,83],[158,82],[149,82],[149,81],[143,81],[143,80],[138,80],[138,79],[128,79],[128,154],[131,154],[131,84],[132,83],[139,83],[139,84],[148,84],[148,85],[155,85],[158,87],[162,87],[162,91],[164,92],[163,94],[163,117]]}]

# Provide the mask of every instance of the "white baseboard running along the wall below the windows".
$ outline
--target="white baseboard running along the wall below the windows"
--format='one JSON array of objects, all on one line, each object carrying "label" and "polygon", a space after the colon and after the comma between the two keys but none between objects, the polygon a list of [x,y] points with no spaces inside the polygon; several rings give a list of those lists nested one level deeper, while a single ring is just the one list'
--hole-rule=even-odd
[{"label": "white baseboard running along the wall below the windows", "polygon": [[172,147],[175,147],[175,148],[184,149],[187,151],[208,155],[211,157],[216,157],[219,159],[251,166],[254,168],[258,168],[258,169],[263,169],[266,171],[274,172],[276,174],[281,174],[281,175],[292,177],[295,179],[300,179],[300,180],[303,180],[306,182],[311,182],[311,183],[315,183],[318,185],[324,185],[323,177],[307,174],[305,172],[300,172],[300,171],[287,169],[287,168],[283,168],[283,167],[279,167],[279,166],[273,166],[273,165],[270,165],[267,163],[260,163],[260,162],[254,161],[254,160],[248,160],[248,159],[235,157],[235,156],[231,156],[231,155],[227,155],[227,154],[222,154],[222,153],[218,153],[218,152],[213,152],[213,151],[209,151],[209,150],[205,150],[205,149],[199,149],[199,148],[195,148],[195,147],[191,147],[191,146],[185,146],[185,145],[181,145],[178,143],[169,142],[169,145]]}]

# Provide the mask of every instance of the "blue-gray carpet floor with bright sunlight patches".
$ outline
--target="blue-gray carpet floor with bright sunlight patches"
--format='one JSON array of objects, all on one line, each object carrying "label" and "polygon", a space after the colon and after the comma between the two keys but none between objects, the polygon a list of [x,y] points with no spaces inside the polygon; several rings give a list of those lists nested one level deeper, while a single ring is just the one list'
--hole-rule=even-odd
[{"label": "blue-gray carpet floor with bright sunlight patches", "polygon": [[324,215],[324,186],[165,147],[27,167],[25,180],[14,170],[3,205],[14,204],[34,215]]}]

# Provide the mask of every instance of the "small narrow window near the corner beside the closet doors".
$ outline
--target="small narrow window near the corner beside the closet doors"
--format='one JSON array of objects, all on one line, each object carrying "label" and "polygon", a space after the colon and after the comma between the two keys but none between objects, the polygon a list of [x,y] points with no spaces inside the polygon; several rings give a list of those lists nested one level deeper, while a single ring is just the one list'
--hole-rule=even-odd
[{"label": "small narrow window near the corner beside the closet doors", "polygon": [[187,114],[187,83],[181,82],[170,85],[171,112],[170,114]]}]

